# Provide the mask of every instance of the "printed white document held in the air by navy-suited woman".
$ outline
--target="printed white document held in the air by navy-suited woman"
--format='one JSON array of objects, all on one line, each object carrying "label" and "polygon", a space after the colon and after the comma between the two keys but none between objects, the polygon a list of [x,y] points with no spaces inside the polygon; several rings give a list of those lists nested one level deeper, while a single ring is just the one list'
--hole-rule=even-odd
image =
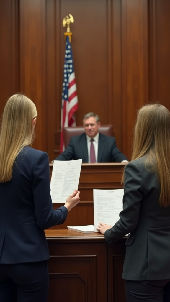
[{"label": "printed white document held in the air by navy-suited woman", "polygon": [[78,189],[82,159],[54,160],[51,175],[51,198],[53,203],[65,203],[66,198]]}]

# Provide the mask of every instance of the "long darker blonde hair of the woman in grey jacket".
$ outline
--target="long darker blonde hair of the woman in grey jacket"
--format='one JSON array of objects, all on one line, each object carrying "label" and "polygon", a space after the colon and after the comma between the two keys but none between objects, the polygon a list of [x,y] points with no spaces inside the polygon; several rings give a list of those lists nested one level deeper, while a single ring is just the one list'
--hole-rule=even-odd
[{"label": "long darker blonde hair of the woman in grey jacket", "polygon": [[139,109],[134,131],[132,160],[146,156],[145,167],[160,183],[159,203],[170,205],[170,112],[159,103]]}]

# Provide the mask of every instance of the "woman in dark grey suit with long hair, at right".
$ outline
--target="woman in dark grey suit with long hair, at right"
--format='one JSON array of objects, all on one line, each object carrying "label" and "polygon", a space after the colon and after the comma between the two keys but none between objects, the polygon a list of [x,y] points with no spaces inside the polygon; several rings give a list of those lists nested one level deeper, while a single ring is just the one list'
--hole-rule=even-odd
[{"label": "woman in dark grey suit with long hair, at right", "polygon": [[170,112],[161,104],[138,112],[119,217],[113,227],[100,223],[97,230],[108,244],[129,233],[122,275],[127,302],[169,302]]}]

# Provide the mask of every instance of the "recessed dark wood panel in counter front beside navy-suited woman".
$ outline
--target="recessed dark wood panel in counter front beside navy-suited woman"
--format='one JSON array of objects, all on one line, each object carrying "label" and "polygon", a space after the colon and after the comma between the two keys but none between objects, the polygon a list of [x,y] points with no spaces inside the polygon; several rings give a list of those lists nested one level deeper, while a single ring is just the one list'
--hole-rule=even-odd
[{"label": "recessed dark wood panel in counter front beside navy-suited woman", "polygon": [[74,297],[75,301],[94,302],[96,300],[94,291],[97,274],[96,257],[96,255],[51,256],[49,291],[52,298],[50,301],[56,301],[56,292],[57,299],[63,300],[63,284],[65,284],[67,288],[64,293],[65,301]]}]

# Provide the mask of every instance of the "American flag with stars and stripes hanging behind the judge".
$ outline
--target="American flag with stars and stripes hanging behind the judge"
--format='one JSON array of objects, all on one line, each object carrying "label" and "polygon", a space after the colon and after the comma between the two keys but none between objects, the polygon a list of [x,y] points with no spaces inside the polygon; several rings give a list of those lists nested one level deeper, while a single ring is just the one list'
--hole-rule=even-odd
[{"label": "American flag with stars and stripes hanging behind the judge", "polygon": [[61,104],[60,153],[64,151],[63,128],[76,126],[74,113],[78,109],[77,87],[73,66],[73,55],[69,36],[66,36],[64,58],[64,80]]}]

